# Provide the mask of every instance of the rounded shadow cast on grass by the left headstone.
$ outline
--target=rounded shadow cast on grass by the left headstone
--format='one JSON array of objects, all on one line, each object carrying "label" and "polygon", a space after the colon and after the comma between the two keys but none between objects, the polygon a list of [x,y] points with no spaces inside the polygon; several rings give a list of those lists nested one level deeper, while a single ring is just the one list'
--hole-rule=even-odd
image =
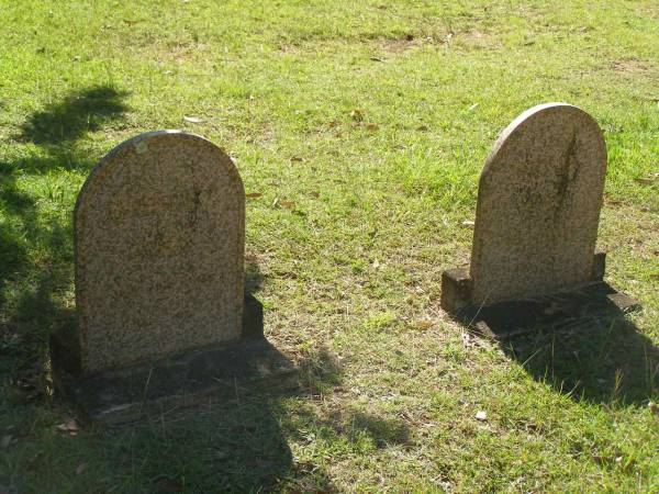
[{"label": "rounded shadow cast on grass by the left headstone", "polygon": [[175,492],[273,491],[293,464],[273,411],[277,398],[238,388],[224,403],[112,431],[120,438],[110,441],[115,448],[108,461],[126,472],[132,464],[124,458],[145,465],[135,482],[150,479],[156,492],[163,478],[181,486]]}]

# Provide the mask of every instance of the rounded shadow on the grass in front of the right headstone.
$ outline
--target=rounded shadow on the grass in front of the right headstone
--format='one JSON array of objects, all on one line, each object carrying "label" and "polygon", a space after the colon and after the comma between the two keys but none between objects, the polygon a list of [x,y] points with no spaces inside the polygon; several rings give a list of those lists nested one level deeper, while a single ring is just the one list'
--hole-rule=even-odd
[{"label": "rounded shadow on the grass in front of the right headstone", "polygon": [[614,310],[500,345],[534,379],[577,402],[643,406],[659,389],[659,347]]}]

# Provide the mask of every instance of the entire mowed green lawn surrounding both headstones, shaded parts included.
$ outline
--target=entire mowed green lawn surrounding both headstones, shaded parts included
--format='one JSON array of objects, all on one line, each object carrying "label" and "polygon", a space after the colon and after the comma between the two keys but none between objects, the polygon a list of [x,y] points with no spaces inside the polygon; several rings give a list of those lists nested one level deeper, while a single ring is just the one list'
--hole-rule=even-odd
[{"label": "entire mowed green lawn surrounding both headstones, shaded parts included", "polygon": [[[0,0],[0,492],[659,491],[657,40],[649,0]],[[440,311],[440,273],[498,134],[549,101],[605,133],[599,242],[644,311],[500,346]],[[158,128],[234,158],[301,386],[63,431],[75,200]]]}]

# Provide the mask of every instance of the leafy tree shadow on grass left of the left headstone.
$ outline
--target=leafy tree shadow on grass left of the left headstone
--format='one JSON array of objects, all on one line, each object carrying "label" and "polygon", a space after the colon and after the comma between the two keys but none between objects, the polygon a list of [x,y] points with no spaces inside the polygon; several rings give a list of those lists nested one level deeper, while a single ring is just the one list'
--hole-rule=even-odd
[{"label": "leafy tree shadow on grass left of the left headstone", "polygon": [[[90,169],[78,141],[122,117],[126,93],[110,86],[74,91],[29,116],[16,136],[38,150],[0,161],[0,374],[29,375],[47,359],[48,333],[70,317],[57,299],[72,281],[71,218],[75,197],[48,178],[54,170]],[[57,173],[53,175],[57,178]],[[38,186],[35,188],[35,183]],[[43,203],[56,203],[42,207]],[[29,362],[29,363],[27,363]],[[24,372],[23,372],[24,371]],[[38,372],[37,372],[38,373]]]}]

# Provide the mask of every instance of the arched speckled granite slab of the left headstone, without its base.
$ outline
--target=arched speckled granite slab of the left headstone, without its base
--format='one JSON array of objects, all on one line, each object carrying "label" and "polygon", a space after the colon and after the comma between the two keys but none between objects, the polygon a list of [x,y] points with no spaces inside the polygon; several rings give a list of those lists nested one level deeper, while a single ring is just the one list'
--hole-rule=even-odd
[{"label": "arched speckled granite slab of the left headstone, without its base", "polygon": [[82,372],[239,338],[245,193],[209,141],[163,131],[114,148],[75,234]]}]

